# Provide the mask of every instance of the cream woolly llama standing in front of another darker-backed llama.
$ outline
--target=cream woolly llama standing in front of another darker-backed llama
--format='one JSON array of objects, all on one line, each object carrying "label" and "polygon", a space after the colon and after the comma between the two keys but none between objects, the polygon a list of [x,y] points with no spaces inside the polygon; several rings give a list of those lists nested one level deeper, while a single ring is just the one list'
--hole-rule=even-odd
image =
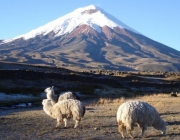
[{"label": "cream woolly llama standing in front of another darker-backed llama", "polygon": [[50,100],[44,99],[42,105],[46,114],[57,119],[56,128],[60,126],[62,121],[64,121],[65,127],[67,127],[67,119],[70,118],[73,118],[75,121],[74,128],[76,128],[86,111],[84,104],[74,99],[58,101],[54,105],[52,105]]}]

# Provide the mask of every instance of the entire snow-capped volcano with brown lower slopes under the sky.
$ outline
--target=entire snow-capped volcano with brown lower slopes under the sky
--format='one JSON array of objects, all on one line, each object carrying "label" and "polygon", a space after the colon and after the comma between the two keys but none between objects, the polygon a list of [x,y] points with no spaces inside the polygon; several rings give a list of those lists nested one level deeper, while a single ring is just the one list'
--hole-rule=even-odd
[{"label": "entire snow-capped volcano with brown lower slopes under the sky", "polygon": [[0,53],[0,61],[76,70],[180,71],[179,51],[143,36],[94,5],[1,40]]}]

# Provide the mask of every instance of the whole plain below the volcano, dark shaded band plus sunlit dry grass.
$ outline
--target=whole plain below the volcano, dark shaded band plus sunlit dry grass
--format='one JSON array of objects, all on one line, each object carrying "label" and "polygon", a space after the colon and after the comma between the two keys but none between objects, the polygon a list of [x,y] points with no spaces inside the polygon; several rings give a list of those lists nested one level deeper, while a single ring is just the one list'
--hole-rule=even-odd
[{"label": "whole plain below the volcano, dark shaded band plus sunlit dry grass", "polygon": [[[5,66],[5,65],[3,65]],[[15,68],[13,66],[13,68]],[[28,68],[28,70],[26,69]],[[74,72],[58,68],[17,65],[0,70],[0,92],[9,96],[22,94],[33,98],[12,100],[0,98],[0,139],[2,140],[118,140],[116,112],[128,100],[141,100],[153,105],[167,122],[167,133],[149,127],[145,140],[180,139],[180,74],[176,72]],[[56,120],[42,109],[44,89],[55,86],[55,93],[73,91],[80,95],[86,113],[78,128],[68,121],[65,129],[56,129]],[[178,93],[177,97],[171,92]],[[7,96],[6,96],[7,97]],[[32,107],[17,107],[32,103]],[[133,130],[141,139],[141,130]],[[125,134],[125,139],[130,137]]]}]

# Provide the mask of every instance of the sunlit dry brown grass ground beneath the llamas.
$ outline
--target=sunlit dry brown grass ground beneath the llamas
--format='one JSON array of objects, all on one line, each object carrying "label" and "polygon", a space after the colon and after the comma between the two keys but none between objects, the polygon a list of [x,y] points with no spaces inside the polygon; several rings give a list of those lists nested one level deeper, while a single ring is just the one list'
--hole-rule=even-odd
[{"label": "sunlit dry brown grass ground beneath the llamas", "polygon": [[[78,128],[74,121],[68,121],[68,128],[55,129],[56,120],[42,110],[42,106],[0,110],[0,139],[2,140],[118,140],[122,139],[117,131],[116,112],[126,100],[142,100],[157,108],[161,117],[168,123],[166,135],[150,127],[145,132],[145,140],[180,139],[180,96],[153,95],[131,99],[100,99],[98,102],[85,103],[86,114]],[[85,102],[85,101],[84,101]],[[141,130],[135,127],[133,135],[141,139]],[[126,140],[130,139],[126,136]]]}]

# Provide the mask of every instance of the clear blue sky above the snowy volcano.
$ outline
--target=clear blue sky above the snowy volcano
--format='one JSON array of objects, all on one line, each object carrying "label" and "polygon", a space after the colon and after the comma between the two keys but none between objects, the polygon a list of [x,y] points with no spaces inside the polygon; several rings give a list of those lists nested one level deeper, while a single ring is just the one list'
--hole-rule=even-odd
[{"label": "clear blue sky above the snowy volcano", "polygon": [[25,34],[90,4],[141,34],[180,51],[180,0],[2,0],[0,39]]}]

